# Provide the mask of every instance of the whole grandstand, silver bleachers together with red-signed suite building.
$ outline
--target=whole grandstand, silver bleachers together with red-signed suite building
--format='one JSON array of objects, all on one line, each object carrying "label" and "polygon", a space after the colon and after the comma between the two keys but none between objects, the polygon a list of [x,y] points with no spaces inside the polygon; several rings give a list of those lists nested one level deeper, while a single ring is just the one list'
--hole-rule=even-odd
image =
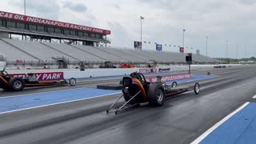
[{"label": "whole grandstand, silver bleachers together with red-signed suite building", "polygon": [[[14,40],[14,34],[22,41]],[[10,67],[78,68],[81,62],[88,67],[104,62],[186,64],[186,54],[106,47],[109,34],[110,30],[0,11],[0,50]],[[199,54],[194,54],[193,60],[199,64],[219,62]]]}]

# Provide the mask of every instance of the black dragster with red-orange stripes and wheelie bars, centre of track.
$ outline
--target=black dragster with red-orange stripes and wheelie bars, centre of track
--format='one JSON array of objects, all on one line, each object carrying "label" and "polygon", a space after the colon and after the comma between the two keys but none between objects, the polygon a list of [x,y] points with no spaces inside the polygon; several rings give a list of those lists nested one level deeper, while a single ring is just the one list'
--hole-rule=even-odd
[{"label": "black dragster with red-orange stripes and wheelie bars, centre of track", "polygon": [[[118,114],[122,110],[146,102],[151,106],[162,106],[166,98],[185,93],[186,91],[194,90],[195,94],[199,94],[200,85],[198,82],[195,82],[194,86],[179,87],[177,82],[168,85],[166,82],[162,82],[161,78],[161,76],[157,76],[157,82],[146,82],[145,76],[137,72],[130,74],[130,77],[123,77],[122,95],[106,110],[106,113],[108,114],[110,110],[115,109],[115,114]],[[126,102],[122,106],[117,107],[116,104],[122,97]]]}]

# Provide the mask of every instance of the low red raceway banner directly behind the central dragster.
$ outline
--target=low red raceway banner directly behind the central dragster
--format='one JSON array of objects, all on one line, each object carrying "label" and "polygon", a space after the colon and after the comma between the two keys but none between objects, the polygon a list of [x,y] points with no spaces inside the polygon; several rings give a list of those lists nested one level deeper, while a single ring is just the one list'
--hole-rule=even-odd
[{"label": "low red raceway banner directly behind the central dragster", "polygon": [[[163,76],[161,81],[170,82],[170,81],[177,81],[185,78],[192,78],[192,74],[178,74],[178,75]],[[146,82],[158,82],[158,78],[155,78],[155,77],[146,78]]]}]

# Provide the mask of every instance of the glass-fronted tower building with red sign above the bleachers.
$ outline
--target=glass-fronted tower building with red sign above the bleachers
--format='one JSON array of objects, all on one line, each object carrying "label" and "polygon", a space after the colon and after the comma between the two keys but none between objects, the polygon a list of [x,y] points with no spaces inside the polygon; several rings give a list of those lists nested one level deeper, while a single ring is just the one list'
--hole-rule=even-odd
[{"label": "glass-fronted tower building with red sign above the bleachers", "polygon": [[110,33],[110,30],[0,11],[0,38],[18,34],[22,40],[29,38],[31,41],[51,42],[56,39],[73,44],[82,42],[86,46],[106,46],[110,43],[110,39],[106,38]]}]

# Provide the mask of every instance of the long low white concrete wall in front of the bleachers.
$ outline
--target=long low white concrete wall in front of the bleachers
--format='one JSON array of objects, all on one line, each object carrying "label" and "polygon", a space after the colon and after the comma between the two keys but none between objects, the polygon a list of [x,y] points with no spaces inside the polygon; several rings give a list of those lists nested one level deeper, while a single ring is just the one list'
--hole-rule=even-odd
[{"label": "long low white concrete wall in front of the bleachers", "polygon": [[[220,65],[191,65],[191,70],[198,69],[214,69],[214,66]],[[232,67],[237,65],[221,65],[225,67]],[[239,65],[241,66],[241,65]],[[158,68],[127,68],[127,69],[86,69],[80,71],[78,69],[42,69],[42,70],[6,70],[10,74],[27,74],[27,73],[44,73],[44,72],[63,72],[64,78],[96,78],[106,76],[124,76],[132,72],[142,72],[146,74],[154,73],[172,73],[188,71],[187,65],[182,66],[161,66]]]}]

